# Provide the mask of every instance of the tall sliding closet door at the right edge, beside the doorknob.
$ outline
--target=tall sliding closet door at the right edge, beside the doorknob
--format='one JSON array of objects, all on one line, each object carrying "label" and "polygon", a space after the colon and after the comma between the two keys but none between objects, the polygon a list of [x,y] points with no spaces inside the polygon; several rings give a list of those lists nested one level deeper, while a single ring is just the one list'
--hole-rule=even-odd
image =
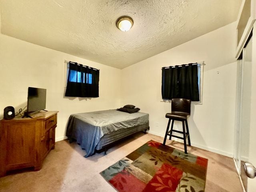
[{"label": "tall sliding closet door at the right edge, beside the doorknob", "polygon": [[238,171],[245,190],[247,176],[244,162],[249,161],[251,96],[252,96],[252,38],[249,38],[242,52],[240,62],[240,98],[238,100]]}]

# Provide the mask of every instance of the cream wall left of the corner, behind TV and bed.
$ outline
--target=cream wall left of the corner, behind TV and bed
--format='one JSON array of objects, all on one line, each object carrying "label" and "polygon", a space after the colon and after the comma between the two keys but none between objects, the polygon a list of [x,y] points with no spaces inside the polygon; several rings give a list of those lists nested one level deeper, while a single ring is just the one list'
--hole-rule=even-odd
[{"label": "cream wall left of the corner, behind TV and bed", "polygon": [[[99,98],[64,97],[64,60],[100,69]],[[46,88],[46,110],[57,110],[56,140],[62,140],[70,114],[120,107],[120,69],[0,34],[0,118],[6,106],[17,112],[28,87]]]}]

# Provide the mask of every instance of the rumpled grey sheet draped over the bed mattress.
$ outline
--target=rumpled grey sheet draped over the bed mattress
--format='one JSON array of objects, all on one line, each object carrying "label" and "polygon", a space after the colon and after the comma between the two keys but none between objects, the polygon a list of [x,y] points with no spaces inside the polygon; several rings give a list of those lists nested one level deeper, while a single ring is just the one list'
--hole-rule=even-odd
[{"label": "rumpled grey sheet draped over the bed mattress", "polygon": [[68,120],[66,136],[76,139],[86,151],[85,157],[94,154],[100,138],[121,129],[148,124],[148,114],[129,114],[117,110],[104,110],[72,114]]}]

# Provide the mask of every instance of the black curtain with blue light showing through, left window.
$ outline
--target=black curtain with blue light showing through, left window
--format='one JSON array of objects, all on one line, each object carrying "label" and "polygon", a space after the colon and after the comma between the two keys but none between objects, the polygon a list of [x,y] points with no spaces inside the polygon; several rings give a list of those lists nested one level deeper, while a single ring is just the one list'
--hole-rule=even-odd
[{"label": "black curtain with blue light showing through, left window", "polygon": [[67,97],[99,97],[100,71],[82,64],[69,62]]}]

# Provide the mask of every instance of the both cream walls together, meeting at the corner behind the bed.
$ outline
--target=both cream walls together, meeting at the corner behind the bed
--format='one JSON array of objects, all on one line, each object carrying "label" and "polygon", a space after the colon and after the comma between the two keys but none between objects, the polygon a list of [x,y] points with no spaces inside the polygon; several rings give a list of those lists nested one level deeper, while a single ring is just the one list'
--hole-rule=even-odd
[{"label": "both cream walls together, meeting at the corner behind the bed", "polygon": [[[123,70],[0,34],[0,109],[26,106],[28,86],[47,89],[47,110],[58,110],[56,140],[70,114],[134,104],[150,114],[150,132],[164,136],[170,103],[161,102],[161,68],[204,61],[202,105],[188,120],[193,146],[232,156],[235,126],[235,24],[200,36]],[[100,69],[100,97],[64,97],[64,60]],[[121,80],[121,81],[120,81]],[[3,111],[0,111],[0,118]],[[178,128],[180,128],[178,124]]]}]

